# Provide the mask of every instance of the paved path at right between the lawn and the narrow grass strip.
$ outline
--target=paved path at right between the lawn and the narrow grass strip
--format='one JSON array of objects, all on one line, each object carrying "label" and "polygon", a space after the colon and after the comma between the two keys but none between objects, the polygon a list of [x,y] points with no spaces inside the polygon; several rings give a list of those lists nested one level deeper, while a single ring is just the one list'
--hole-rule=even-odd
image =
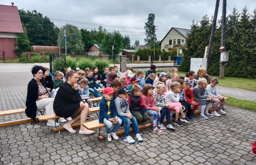
[{"label": "paved path at right between the lawn and the narrow grass strip", "polygon": [[230,88],[226,86],[216,86],[218,93],[244,100],[256,101],[256,91]]}]

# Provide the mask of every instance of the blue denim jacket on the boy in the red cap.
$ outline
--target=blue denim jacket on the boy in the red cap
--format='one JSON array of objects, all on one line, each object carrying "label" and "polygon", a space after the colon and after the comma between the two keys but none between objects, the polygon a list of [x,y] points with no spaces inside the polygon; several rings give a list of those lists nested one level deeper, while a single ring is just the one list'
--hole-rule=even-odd
[{"label": "blue denim jacket on the boy in the red cap", "polygon": [[[107,114],[108,108],[110,111],[110,115]],[[107,100],[103,98],[100,102],[99,122],[103,123],[104,118],[108,120],[109,118],[113,118],[115,116],[117,116],[115,100],[114,99],[110,100],[110,105],[108,107]]]}]

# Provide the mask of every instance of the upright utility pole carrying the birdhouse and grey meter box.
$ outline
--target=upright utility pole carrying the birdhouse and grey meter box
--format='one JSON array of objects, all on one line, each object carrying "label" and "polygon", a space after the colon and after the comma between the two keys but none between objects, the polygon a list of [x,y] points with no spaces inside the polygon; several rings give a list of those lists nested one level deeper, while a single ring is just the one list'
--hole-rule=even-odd
[{"label": "upright utility pole carrying the birdhouse and grey meter box", "polygon": [[[220,43],[221,47],[226,45],[226,9],[227,9],[227,0],[223,0],[222,22],[221,22],[221,43]],[[225,72],[224,69],[225,69],[225,63],[220,62],[220,79],[224,79],[224,72]]]}]

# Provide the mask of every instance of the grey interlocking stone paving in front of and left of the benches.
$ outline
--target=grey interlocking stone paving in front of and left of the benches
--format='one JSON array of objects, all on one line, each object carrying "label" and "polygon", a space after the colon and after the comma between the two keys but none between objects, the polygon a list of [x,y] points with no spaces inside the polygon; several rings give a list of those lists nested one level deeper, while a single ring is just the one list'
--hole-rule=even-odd
[{"label": "grey interlocking stone paving in front of and left of the benches", "polygon": [[[0,111],[25,107],[27,83],[32,74],[26,69],[29,64],[18,66],[13,67],[17,71],[12,71],[12,67],[4,70],[0,63]],[[255,140],[250,136],[255,134],[256,112],[232,106],[225,106],[225,111],[227,115],[208,120],[197,116],[193,122],[182,123],[183,127],[166,130],[163,135],[152,133],[152,128],[143,129],[140,133],[144,141],[133,145],[123,141],[124,135],[119,140],[105,142],[98,139],[97,133],[80,135],[64,130],[58,134],[46,121],[2,127],[0,164],[253,165],[256,156],[251,144]],[[0,122],[18,118],[26,116],[1,116]],[[95,113],[89,117],[94,119],[97,119]],[[79,128],[75,130],[78,132]],[[134,137],[133,133],[131,136]]]}]

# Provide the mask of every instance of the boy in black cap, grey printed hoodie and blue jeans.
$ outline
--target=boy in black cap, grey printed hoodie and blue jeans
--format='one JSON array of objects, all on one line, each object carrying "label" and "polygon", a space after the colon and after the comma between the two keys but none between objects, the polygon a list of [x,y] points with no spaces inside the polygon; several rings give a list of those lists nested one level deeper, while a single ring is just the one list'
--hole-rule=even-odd
[{"label": "boy in black cap, grey printed hoodie and blue jeans", "polygon": [[118,117],[124,122],[124,141],[130,144],[135,143],[135,140],[130,136],[130,124],[132,122],[133,130],[135,139],[139,142],[143,141],[140,135],[140,130],[138,128],[137,120],[134,116],[132,116],[129,110],[129,100],[128,97],[128,90],[124,87],[121,87],[118,90],[119,97],[115,100],[115,106],[118,113]]}]

